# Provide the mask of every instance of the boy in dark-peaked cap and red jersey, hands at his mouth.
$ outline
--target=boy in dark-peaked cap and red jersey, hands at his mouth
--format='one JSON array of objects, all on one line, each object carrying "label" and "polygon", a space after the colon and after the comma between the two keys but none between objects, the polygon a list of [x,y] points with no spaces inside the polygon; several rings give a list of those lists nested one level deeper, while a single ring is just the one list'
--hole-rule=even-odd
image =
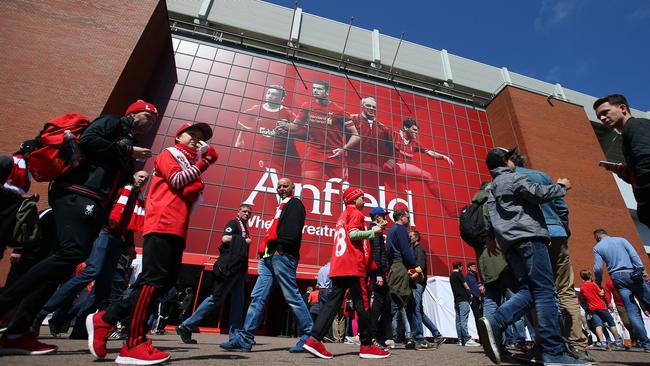
[{"label": "boy in dark-peaked cap and red jersey, hands at his mouth", "polygon": [[129,338],[115,362],[152,365],[170,358],[146,339],[145,324],[155,300],[176,283],[190,214],[201,201],[201,173],[218,158],[203,142],[211,137],[209,125],[186,123],[176,132],[176,145],[156,158],[145,205],[142,273],[128,298],[86,318],[88,348],[96,358],[106,356],[109,334],[129,315]]}]

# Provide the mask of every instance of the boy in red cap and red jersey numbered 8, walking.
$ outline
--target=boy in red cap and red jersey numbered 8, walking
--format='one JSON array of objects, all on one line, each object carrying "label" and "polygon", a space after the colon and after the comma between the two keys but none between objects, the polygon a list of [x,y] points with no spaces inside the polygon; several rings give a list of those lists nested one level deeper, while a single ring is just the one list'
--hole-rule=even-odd
[{"label": "boy in red cap and red jersey numbered 8, walking", "polygon": [[366,230],[363,209],[363,191],[349,187],[343,192],[345,211],[339,216],[334,234],[330,278],[332,290],[303,348],[320,358],[332,358],[322,340],[349,290],[354,308],[359,316],[359,340],[361,358],[386,358],[390,352],[373,344],[374,329],[370,321],[368,294],[366,291],[366,270],[371,267],[369,248],[364,242],[374,236],[382,235],[383,227],[374,226]]}]

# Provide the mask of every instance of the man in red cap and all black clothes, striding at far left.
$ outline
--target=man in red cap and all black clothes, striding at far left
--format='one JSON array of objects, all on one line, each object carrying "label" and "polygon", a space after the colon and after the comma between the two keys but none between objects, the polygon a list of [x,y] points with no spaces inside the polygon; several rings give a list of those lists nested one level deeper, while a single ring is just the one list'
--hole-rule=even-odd
[{"label": "man in red cap and all black clothes, striding at far left", "polygon": [[15,321],[0,338],[1,353],[56,351],[56,346],[39,342],[29,328],[56,286],[90,254],[108,219],[108,203],[133,174],[133,159],[151,156],[151,150],[134,146],[133,139],[148,132],[157,118],[153,104],[138,100],[123,117],[101,116],[81,134],[79,148],[86,162],[52,181],[48,191],[57,227],[56,249],[0,295],[0,315],[21,303]]}]

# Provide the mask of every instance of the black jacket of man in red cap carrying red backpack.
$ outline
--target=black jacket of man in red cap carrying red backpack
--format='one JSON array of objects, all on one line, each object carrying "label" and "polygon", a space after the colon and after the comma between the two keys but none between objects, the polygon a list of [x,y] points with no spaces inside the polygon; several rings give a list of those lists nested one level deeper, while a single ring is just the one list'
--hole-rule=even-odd
[{"label": "black jacket of man in red cap carrying red backpack", "polygon": [[86,161],[59,177],[54,186],[91,197],[102,205],[112,201],[118,187],[133,175],[133,120],[101,116],[81,134],[79,147]]}]

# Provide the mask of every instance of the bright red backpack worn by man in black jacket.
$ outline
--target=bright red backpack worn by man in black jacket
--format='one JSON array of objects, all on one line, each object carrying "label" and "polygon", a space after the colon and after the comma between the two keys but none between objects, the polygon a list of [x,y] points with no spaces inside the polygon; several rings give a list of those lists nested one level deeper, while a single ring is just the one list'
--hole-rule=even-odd
[{"label": "bright red backpack worn by man in black jacket", "polygon": [[63,144],[64,133],[70,130],[78,143],[88,125],[90,120],[77,113],[64,114],[47,122],[27,155],[27,169],[32,177],[38,182],[49,182],[76,167],[79,161],[71,161]]}]

